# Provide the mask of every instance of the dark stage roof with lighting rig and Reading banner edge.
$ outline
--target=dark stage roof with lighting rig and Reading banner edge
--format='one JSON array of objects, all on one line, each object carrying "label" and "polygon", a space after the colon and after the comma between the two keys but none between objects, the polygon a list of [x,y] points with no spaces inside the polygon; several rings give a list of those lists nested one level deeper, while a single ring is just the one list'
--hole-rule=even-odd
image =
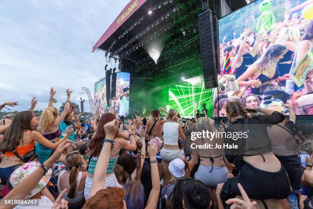
[{"label": "dark stage roof with lighting rig and Reading banner edge", "polygon": [[[136,65],[137,78],[181,81],[202,74],[198,15],[200,0],[132,0],[93,50],[108,52],[120,63]],[[161,45],[158,63],[148,55]],[[125,71],[130,72],[126,67]]]}]

